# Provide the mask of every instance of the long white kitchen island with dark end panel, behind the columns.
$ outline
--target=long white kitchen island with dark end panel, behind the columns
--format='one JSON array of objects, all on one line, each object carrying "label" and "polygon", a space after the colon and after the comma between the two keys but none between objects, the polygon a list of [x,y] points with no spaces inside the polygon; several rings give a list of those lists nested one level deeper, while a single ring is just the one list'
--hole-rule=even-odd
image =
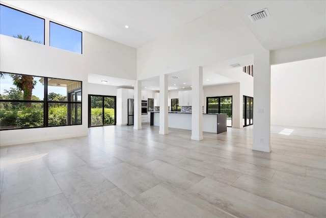
[{"label": "long white kitchen island with dark end panel, behind the columns", "polygon": [[[226,113],[203,114],[203,132],[226,132]],[[151,126],[159,126],[159,112],[151,112]],[[168,113],[168,126],[170,128],[191,130],[192,114],[181,112]]]}]

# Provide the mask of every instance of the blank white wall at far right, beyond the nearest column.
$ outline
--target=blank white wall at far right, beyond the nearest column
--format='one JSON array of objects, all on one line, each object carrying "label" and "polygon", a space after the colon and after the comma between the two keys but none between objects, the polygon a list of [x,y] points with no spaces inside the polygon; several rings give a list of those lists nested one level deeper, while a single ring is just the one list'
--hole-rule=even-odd
[{"label": "blank white wall at far right, beyond the nearest column", "polygon": [[326,128],[326,57],[271,66],[271,125]]}]

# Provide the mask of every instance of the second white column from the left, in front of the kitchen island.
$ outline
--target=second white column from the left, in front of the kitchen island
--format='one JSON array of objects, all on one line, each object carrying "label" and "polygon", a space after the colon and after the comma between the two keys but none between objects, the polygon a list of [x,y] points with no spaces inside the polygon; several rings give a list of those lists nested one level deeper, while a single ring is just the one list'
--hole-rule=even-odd
[{"label": "second white column from the left, in front of the kitchen island", "polygon": [[168,128],[168,75],[159,76],[159,134],[169,134]]}]

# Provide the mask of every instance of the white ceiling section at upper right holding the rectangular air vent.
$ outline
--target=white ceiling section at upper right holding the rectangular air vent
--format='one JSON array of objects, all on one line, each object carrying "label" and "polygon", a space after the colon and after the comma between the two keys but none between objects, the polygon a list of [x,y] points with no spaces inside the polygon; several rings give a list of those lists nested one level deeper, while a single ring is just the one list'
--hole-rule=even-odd
[{"label": "white ceiling section at upper right holding the rectangular air vent", "polygon": [[[239,16],[266,50],[326,38],[326,1],[232,1]],[[252,22],[248,15],[268,9]]]}]

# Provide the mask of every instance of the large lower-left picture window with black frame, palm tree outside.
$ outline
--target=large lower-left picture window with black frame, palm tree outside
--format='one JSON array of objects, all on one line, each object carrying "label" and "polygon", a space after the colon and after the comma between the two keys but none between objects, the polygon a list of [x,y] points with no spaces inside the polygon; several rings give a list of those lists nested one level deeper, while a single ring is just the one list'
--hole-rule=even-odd
[{"label": "large lower-left picture window with black frame, palm tree outside", "polygon": [[81,81],[0,74],[0,130],[82,124]]}]

